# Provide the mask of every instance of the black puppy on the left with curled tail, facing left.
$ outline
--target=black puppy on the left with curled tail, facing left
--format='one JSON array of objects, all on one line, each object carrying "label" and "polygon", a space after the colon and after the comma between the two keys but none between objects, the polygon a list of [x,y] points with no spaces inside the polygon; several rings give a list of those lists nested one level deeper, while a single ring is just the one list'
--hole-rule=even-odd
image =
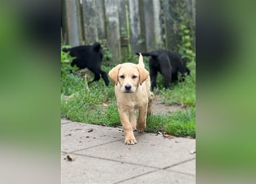
[{"label": "black puppy on the left with curled tail, facing left", "polygon": [[100,43],[96,42],[93,45],[81,45],[78,47],[64,48],[62,51],[70,52],[72,57],[76,57],[74,60],[72,60],[71,66],[76,65],[79,70],[88,68],[94,73],[94,79],[91,82],[99,81],[102,77],[105,81],[105,85],[109,85],[108,75],[106,75],[105,71],[101,70],[103,53],[101,51]]}]

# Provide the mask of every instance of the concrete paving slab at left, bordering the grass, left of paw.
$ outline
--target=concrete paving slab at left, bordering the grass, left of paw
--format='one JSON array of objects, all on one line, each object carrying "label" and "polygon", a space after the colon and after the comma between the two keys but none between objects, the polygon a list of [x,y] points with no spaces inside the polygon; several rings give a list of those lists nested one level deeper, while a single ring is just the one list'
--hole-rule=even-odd
[{"label": "concrete paving slab at left, bordering the grass, left of paw", "polygon": [[[90,129],[93,131],[90,132]],[[113,141],[124,143],[124,132],[121,128],[71,122],[62,124],[61,130],[63,152],[73,152]],[[138,133],[135,132],[135,136],[137,135]]]}]

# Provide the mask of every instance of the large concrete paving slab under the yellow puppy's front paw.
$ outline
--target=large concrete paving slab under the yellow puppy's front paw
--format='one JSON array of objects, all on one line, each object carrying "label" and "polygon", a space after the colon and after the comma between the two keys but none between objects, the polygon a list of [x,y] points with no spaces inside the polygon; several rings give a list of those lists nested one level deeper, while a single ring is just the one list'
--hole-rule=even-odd
[{"label": "large concrete paving slab under the yellow puppy's front paw", "polygon": [[[112,133],[109,132],[108,135]],[[136,139],[135,145],[125,145],[123,140],[119,140],[74,153],[155,168],[167,168],[196,157],[189,153],[196,148],[194,139],[164,139],[161,135],[150,133],[136,136]]]}]

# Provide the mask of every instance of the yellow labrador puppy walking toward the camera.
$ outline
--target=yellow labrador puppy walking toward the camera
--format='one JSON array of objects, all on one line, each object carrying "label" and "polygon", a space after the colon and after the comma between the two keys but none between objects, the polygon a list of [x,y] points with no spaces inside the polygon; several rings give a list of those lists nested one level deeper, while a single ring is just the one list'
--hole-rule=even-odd
[{"label": "yellow labrador puppy walking toward the camera", "polygon": [[[143,133],[147,114],[152,111],[153,97],[150,92],[150,76],[144,68],[142,55],[139,56],[139,64],[119,64],[109,71],[109,77],[115,84],[114,93],[124,129],[124,144],[136,144],[133,129]],[[137,120],[135,110],[139,110]]]}]

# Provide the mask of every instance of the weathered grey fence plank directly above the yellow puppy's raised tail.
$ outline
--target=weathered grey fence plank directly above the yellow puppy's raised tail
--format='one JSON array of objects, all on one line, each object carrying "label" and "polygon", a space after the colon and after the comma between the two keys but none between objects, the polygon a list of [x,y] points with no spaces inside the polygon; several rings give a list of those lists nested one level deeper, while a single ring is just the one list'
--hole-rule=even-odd
[{"label": "weathered grey fence plank directly above the yellow puppy's raised tail", "polygon": [[142,52],[144,47],[144,39],[142,33],[142,25],[140,24],[139,1],[130,0],[129,4],[129,40],[131,44],[131,52]]}]

